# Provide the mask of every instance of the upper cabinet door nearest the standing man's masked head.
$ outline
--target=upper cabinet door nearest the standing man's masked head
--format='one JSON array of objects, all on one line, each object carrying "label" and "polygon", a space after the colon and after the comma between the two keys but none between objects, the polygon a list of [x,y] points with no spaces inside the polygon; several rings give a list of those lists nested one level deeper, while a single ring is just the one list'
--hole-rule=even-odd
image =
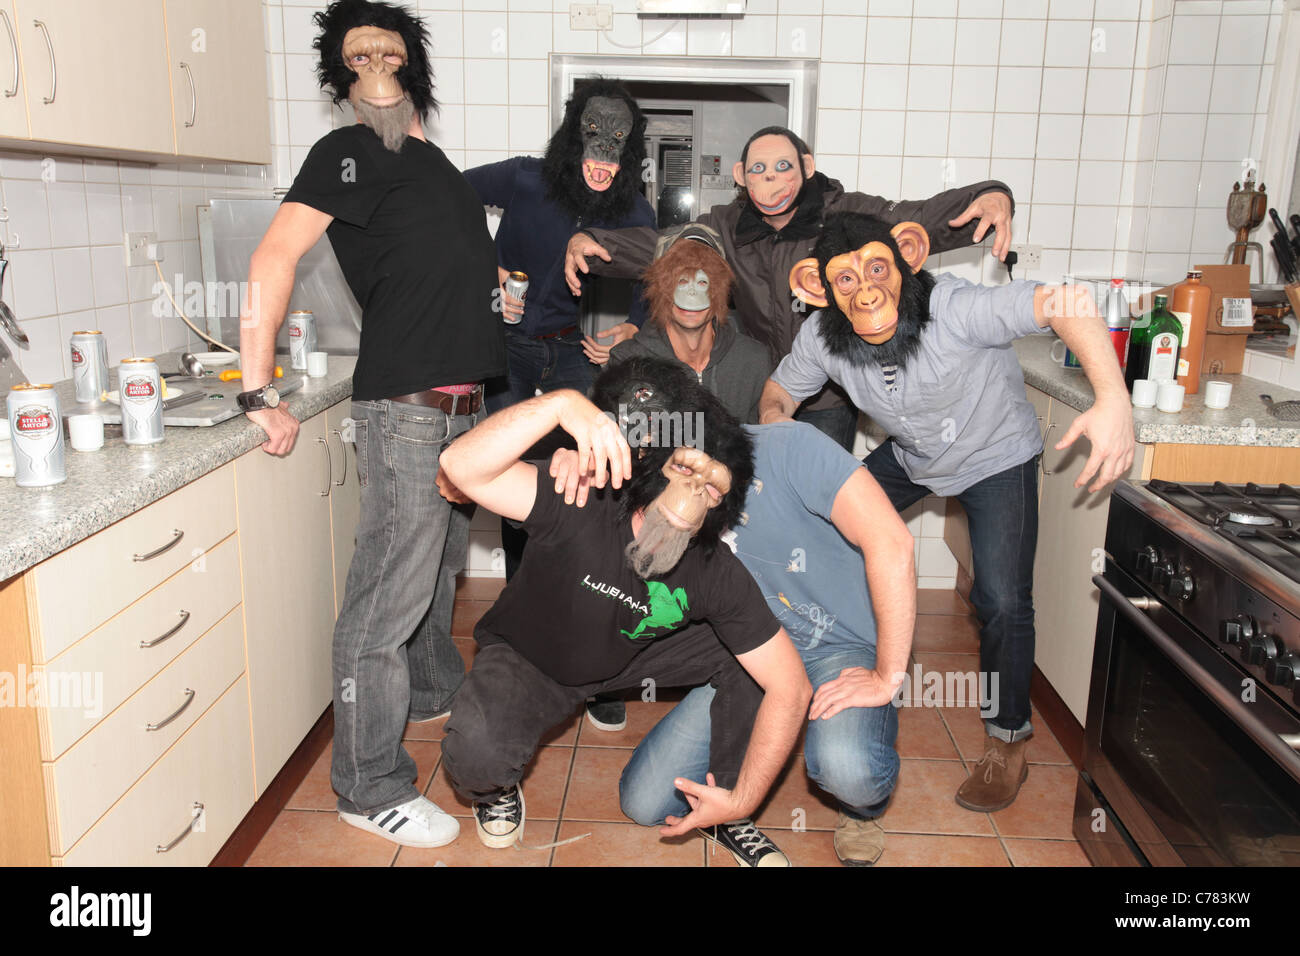
[{"label": "upper cabinet door nearest the standing man's masked head", "polygon": [[270,163],[261,0],[165,4],[176,151]]}]

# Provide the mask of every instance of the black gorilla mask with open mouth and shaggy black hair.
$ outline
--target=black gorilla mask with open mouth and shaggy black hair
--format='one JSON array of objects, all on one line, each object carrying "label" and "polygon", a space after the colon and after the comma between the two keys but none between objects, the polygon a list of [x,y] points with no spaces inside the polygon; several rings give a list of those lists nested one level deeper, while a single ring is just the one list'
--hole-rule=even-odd
[{"label": "black gorilla mask with open mouth and shaggy black hair", "polygon": [[[597,130],[589,135],[593,121]],[[623,135],[616,137],[615,131]],[[621,83],[604,78],[584,83],[564,104],[564,121],[546,144],[542,159],[546,198],[586,222],[614,222],[630,213],[641,194],[645,131],[645,114]],[[616,152],[620,143],[621,152]],[[584,159],[618,163],[619,172],[608,189],[598,191],[586,185]]]}]

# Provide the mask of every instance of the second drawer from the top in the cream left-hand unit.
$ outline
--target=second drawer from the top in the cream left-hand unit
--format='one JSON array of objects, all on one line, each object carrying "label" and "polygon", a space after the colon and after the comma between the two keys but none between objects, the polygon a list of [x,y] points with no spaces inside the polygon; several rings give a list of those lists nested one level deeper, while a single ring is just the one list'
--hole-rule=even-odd
[{"label": "second drawer from the top in the cream left-hand unit", "polygon": [[[239,541],[231,535],[46,665],[42,760],[77,743],[238,604]],[[82,693],[55,692],[64,687]]]}]

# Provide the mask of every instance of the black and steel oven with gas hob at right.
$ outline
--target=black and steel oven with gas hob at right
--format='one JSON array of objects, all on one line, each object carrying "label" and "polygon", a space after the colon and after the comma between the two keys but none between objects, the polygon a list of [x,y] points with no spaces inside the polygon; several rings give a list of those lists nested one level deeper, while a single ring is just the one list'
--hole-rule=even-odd
[{"label": "black and steel oven with gas hob at right", "polygon": [[[1300,497],[1249,490],[1290,540]],[[1074,832],[1098,865],[1300,866],[1300,580],[1179,494],[1112,498]]]}]

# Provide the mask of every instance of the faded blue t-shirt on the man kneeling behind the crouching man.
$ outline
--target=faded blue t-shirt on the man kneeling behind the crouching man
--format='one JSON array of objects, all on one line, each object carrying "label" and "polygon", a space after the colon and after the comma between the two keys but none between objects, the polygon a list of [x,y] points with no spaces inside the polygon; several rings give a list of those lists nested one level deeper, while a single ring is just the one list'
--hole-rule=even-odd
[{"label": "faded blue t-shirt on the man kneeling behind the crouching man", "polygon": [[875,646],[862,551],[831,523],[835,496],[862,462],[812,425],[745,429],[754,438],[754,481],[741,522],[723,540],[805,661]]}]

